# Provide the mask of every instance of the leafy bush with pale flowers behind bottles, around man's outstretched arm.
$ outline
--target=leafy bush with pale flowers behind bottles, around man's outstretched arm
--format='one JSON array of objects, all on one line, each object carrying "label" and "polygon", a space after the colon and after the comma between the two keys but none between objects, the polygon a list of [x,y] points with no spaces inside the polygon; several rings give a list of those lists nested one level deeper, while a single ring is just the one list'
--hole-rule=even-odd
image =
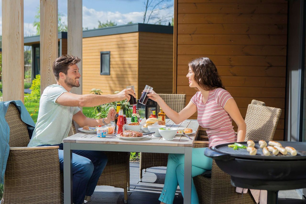
[{"label": "leafy bush with pale flowers behind bottles, around man's outstretched arm", "polygon": [[[101,89],[91,89],[90,93],[101,95],[103,93]],[[116,93],[119,93],[119,91],[116,91]],[[96,106],[94,110],[91,112],[90,116],[91,118],[95,119],[100,119],[100,118],[105,118],[108,114],[108,111],[110,108],[115,108],[117,106],[117,103],[121,103],[121,109],[123,109],[123,114],[126,115],[126,117],[132,117],[132,111],[129,108],[129,102],[127,100],[122,100],[122,101],[115,101],[109,104],[103,104]]]}]

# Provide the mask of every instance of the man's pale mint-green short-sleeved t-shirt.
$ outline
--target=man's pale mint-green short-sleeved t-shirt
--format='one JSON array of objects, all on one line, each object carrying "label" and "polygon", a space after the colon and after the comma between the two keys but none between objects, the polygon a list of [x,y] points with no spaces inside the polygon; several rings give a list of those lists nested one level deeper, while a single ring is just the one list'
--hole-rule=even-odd
[{"label": "man's pale mint-green short-sleeved t-shirt", "polygon": [[68,136],[72,116],[79,107],[62,106],[55,101],[67,92],[61,85],[48,86],[40,97],[37,123],[28,147],[38,145],[57,145]]}]

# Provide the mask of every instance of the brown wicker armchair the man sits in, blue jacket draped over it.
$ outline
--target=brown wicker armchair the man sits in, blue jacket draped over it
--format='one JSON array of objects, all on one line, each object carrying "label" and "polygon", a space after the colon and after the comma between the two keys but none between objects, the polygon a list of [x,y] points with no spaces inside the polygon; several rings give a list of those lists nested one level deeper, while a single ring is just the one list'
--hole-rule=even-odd
[{"label": "brown wicker armchair the man sits in, blue jacket draped over it", "polygon": [[10,128],[10,150],[2,204],[63,203],[58,146],[27,147],[28,130],[14,104],[9,105],[5,119]]}]

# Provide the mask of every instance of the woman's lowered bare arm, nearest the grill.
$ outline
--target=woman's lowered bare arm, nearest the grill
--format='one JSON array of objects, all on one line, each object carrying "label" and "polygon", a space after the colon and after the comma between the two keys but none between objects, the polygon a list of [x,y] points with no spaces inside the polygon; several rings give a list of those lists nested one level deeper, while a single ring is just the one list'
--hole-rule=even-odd
[{"label": "woman's lowered bare arm, nearest the grill", "polygon": [[235,102],[235,100],[233,98],[230,98],[225,106],[224,106],[224,110],[226,112],[228,112],[228,114],[231,116],[231,118],[233,119],[233,121],[235,121],[235,123],[238,126],[238,130],[237,130],[237,142],[244,142],[244,138],[245,138],[245,132],[247,130],[247,126],[244,122],[244,119],[241,116],[241,113],[237,107],[237,104]]}]

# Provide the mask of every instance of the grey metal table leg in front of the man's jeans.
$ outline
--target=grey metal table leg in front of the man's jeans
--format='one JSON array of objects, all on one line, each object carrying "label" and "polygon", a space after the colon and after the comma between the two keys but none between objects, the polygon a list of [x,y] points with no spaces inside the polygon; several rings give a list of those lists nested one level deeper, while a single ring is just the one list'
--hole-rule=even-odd
[{"label": "grey metal table leg in front of the man's jeans", "polygon": [[[64,203],[72,204],[72,150],[70,143],[64,142]],[[68,162],[70,161],[70,162]]]}]

